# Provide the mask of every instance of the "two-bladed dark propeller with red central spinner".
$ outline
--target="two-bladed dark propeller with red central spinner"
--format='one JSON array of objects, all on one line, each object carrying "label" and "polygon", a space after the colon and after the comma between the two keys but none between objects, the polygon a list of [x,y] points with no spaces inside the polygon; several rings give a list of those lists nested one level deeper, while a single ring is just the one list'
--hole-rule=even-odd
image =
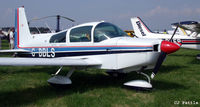
[{"label": "two-bladed dark propeller with red central spinner", "polygon": [[177,50],[180,48],[179,45],[177,45],[177,44],[175,44],[175,43],[172,42],[173,37],[174,37],[174,35],[175,35],[177,29],[178,29],[178,26],[177,26],[176,29],[174,30],[174,33],[173,33],[173,35],[172,35],[172,37],[171,37],[171,39],[170,39],[169,41],[162,41],[162,42],[161,42],[161,46],[160,46],[160,48],[161,48],[161,53],[160,53],[160,55],[159,55],[159,57],[158,57],[158,60],[157,60],[157,62],[156,62],[156,66],[154,67],[153,72],[152,72],[152,74],[151,74],[151,78],[152,78],[152,79],[153,79],[154,76],[157,74],[157,72],[158,72],[159,68],[161,67],[161,65],[162,65],[162,63],[163,63],[163,61],[164,61],[164,59],[165,59],[166,56],[167,56],[167,54],[173,53],[173,52],[177,51]]}]

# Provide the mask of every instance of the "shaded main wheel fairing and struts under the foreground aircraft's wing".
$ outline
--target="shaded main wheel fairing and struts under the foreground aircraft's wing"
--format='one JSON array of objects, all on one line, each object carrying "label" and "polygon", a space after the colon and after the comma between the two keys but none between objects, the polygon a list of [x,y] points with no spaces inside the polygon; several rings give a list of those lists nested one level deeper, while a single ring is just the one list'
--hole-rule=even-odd
[{"label": "shaded main wheel fairing and struts under the foreground aircraft's wing", "polygon": [[72,73],[74,72],[75,68],[72,68],[66,76],[58,75],[58,73],[62,70],[63,66],[61,66],[58,71],[55,74],[52,74],[53,77],[51,77],[47,82],[53,86],[65,86],[72,84],[72,81],[70,79]]}]

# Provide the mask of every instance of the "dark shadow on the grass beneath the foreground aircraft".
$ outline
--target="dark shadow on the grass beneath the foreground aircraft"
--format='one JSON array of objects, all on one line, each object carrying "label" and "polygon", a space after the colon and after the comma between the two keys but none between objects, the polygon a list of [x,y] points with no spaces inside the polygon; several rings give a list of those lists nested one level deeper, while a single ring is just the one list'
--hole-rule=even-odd
[{"label": "dark shadow on the grass beneath the foreground aircraft", "polygon": [[[0,106],[25,106],[35,104],[40,100],[60,98],[74,93],[84,93],[101,88],[122,88],[124,82],[139,78],[140,75],[130,73],[124,78],[112,78],[104,73],[75,72],[72,75],[73,84],[66,88],[54,88],[50,85],[36,86],[8,92],[0,92]],[[156,90],[185,89],[186,87],[167,81],[153,81]]]}]

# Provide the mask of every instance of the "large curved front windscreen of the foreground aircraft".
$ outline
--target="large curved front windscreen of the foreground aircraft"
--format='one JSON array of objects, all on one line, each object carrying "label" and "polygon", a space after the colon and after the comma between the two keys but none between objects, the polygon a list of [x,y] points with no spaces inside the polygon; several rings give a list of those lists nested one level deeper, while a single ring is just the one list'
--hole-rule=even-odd
[{"label": "large curved front windscreen of the foreground aircraft", "polygon": [[100,42],[108,38],[128,36],[117,26],[110,23],[100,23],[94,30],[94,42]]}]

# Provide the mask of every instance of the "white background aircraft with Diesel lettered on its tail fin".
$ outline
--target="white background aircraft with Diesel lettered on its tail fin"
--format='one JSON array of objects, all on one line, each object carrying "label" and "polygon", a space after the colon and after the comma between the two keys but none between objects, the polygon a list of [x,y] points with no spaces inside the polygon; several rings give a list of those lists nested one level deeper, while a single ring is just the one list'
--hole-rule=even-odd
[{"label": "white background aircraft with Diesel lettered on its tail fin", "polygon": [[[152,32],[139,17],[131,18],[131,23],[136,36],[139,38],[169,40],[172,37],[170,34]],[[175,34],[177,29],[179,29],[179,32],[182,31],[179,27],[175,29],[173,41],[180,42],[183,48],[200,50],[200,37]]]}]

